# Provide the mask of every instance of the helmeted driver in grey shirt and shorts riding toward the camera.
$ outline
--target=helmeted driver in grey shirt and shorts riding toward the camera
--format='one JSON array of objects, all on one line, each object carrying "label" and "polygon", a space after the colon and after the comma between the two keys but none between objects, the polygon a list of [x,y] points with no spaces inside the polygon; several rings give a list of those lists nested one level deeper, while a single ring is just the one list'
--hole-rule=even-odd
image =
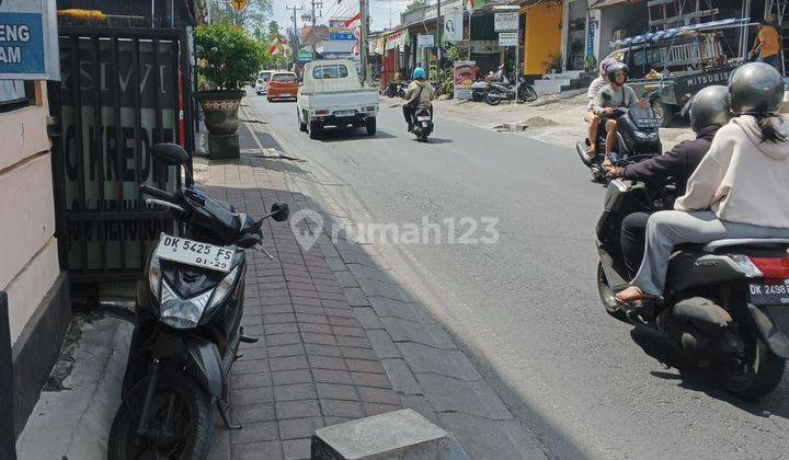
[{"label": "helmeted driver in grey shirt and shorts riding toward the camera", "polygon": [[610,118],[616,108],[627,108],[639,103],[636,91],[625,84],[628,77],[628,67],[621,62],[608,67],[606,76],[608,84],[603,87],[592,104],[595,115],[606,118],[606,151],[603,164],[610,163],[610,152],[617,147],[617,120]]}]

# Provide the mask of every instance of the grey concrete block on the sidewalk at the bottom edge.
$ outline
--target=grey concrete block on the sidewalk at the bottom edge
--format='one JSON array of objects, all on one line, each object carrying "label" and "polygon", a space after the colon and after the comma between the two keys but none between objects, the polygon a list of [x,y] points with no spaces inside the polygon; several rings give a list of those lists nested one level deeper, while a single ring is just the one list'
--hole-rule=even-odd
[{"label": "grey concrete block on the sidewalk at the bottom edge", "polygon": [[468,456],[454,436],[404,409],[318,429],[312,459],[441,459]]}]

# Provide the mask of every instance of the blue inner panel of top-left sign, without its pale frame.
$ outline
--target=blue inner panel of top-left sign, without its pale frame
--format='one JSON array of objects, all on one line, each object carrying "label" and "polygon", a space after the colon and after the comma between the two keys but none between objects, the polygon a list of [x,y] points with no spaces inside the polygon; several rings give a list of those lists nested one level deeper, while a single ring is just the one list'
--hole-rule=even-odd
[{"label": "blue inner panel of top-left sign, without its pale frame", "polygon": [[37,13],[0,13],[0,73],[44,73],[44,27]]}]

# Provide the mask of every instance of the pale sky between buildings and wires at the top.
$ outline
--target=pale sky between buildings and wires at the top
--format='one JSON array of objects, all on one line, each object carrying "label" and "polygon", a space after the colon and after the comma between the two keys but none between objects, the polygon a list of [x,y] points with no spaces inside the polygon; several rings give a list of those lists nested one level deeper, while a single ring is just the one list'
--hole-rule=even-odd
[{"label": "pale sky between buildings and wires at the top", "polygon": [[[340,3],[336,0],[322,0],[323,1],[323,16],[319,15],[318,23],[328,23],[329,19],[332,18],[351,18],[358,12],[358,0],[342,0]],[[405,10],[405,7],[411,3],[411,0],[368,0],[370,8],[370,31],[381,31],[388,28],[391,25],[398,25],[400,23],[400,13]],[[311,5],[311,0],[272,0],[272,7],[274,9],[274,20],[279,23],[279,27],[285,30],[293,27],[293,13],[288,10],[289,7],[304,7],[304,11],[297,11],[297,23],[301,27],[302,21],[300,15],[308,12]],[[391,15],[390,15],[391,11]],[[320,13],[318,11],[318,13]]]}]

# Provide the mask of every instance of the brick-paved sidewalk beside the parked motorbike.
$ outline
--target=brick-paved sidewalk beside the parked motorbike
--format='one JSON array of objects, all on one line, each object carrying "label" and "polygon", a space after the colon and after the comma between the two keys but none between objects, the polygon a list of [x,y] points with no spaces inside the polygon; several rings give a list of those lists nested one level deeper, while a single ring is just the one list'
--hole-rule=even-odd
[{"label": "brick-paved sidewalk beside the parked motorbike", "polygon": [[[263,119],[253,106],[243,112]],[[291,216],[264,226],[275,260],[249,253],[245,333],[261,341],[244,348],[231,379],[244,428],[228,432],[218,422],[210,458],[308,458],[316,428],[400,407],[453,432],[474,459],[546,458],[375,246],[342,231],[329,239],[332,225],[353,222],[307,165],[255,153],[276,147],[300,157],[272,129],[242,126],[241,160],[210,164],[205,185],[252,217],[276,200]],[[299,209],[316,211],[324,228]],[[315,244],[302,248],[294,231],[312,232]]]}]

